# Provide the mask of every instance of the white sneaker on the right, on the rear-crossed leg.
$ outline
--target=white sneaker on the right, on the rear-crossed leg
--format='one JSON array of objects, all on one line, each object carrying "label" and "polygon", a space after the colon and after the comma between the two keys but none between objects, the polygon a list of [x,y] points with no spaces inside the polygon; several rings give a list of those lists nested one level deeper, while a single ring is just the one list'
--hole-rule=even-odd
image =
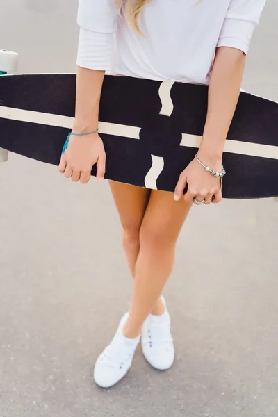
[{"label": "white sneaker on the right, on the rear-crossed leg", "polygon": [[142,352],[149,364],[158,370],[169,369],[174,363],[174,343],[166,304],[165,309],[161,316],[150,314],[142,325]]}]

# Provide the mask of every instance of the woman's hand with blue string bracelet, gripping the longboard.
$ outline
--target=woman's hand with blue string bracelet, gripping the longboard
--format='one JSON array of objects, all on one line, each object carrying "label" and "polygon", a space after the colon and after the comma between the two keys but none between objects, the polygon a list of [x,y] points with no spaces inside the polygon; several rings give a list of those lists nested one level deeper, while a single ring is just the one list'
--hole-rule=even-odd
[{"label": "woman's hand with blue string bracelet, gripping the longboard", "polygon": [[[72,133],[79,133],[72,131]],[[97,164],[97,181],[104,179],[106,153],[98,133],[70,136],[67,149],[60,158],[59,171],[72,181],[85,184],[91,177],[93,165]]]}]

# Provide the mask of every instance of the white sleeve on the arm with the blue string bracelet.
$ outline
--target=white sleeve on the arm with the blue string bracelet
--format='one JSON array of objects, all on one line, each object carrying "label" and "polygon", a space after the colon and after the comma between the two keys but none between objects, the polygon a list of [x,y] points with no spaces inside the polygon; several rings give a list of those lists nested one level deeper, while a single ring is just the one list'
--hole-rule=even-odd
[{"label": "white sleeve on the arm with the blue string bracelet", "polygon": [[92,70],[110,68],[117,17],[115,0],[79,0],[77,65]]}]

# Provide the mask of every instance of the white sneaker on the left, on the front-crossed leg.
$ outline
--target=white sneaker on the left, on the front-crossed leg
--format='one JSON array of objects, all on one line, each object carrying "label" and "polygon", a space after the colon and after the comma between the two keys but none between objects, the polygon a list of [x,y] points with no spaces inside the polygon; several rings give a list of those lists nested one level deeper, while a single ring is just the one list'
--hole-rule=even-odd
[{"label": "white sneaker on the left, on the front-crossed leg", "polygon": [[101,388],[109,388],[117,384],[128,373],[140,336],[134,339],[122,334],[122,327],[129,313],[126,313],[111,343],[104,349],[95,363],[94,379]]}]

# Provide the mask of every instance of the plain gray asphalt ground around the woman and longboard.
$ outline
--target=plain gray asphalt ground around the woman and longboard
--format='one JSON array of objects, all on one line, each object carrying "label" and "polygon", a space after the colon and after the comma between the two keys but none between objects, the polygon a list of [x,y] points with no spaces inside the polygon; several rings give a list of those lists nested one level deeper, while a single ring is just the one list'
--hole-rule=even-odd
[{"label": "plain gray asphalt ground around the woman and longboard", "polygon": [[[0,47],[20,53],[19,71],[75,70],[76,1],[0,4]],[[268,0],[243,85],[276,100],[277,19]],[[277,416],[277,202],[193,209],[165,290],[174,368],[155,372],[138,350],[104,391],[92,366],[131,294],[108,184],[11,154],[0,190],[1,417]]]}]

